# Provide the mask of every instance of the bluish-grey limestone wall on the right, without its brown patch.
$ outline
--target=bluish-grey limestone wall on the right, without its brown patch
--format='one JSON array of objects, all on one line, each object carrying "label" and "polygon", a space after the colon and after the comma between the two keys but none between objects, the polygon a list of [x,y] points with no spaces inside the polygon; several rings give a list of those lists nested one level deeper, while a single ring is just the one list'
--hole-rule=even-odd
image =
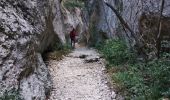
[{"label": "bluish-grey limestone wall on the right, without its brown patch", "polygon": [[[160,13],[161,0],[105,0],[120,13],[130,28],[135,32],[135,36],[140,37],[140,18],[142,14],[158,16]],[[104,4],[104,0],[86,0],[87,19],[90,24],[89,30],[95,28],[96,33],[91,32],[91,40],[100,41],[103,34],[107,37],[125,37],[131,44],[135,44],[135,39],[129,31],[124,31],[115,13]],[[163,16],[170,16],[170,1],[165,0]],[[156,25],[155,25],[156,26]],[[153,30],[154,27],[150,28]],[[94,31],[93,31],[94,32]],[[95,39],[94,37],[98,37]]]}]

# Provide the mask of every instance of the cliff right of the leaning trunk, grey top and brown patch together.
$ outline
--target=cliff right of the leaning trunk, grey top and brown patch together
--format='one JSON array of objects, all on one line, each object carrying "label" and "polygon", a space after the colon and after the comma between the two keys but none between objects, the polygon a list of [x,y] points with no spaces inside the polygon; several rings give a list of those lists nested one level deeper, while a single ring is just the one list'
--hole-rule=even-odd
[{"label": "cliff right of the leaning trunk, grey top and brown patch together", "polygon": [[[141,48],[144,49],[144,53],[148,59],[155,57],[157,55],[157,50],[159,52],[159,47],[157,47],[157,45],[160,46],[160,44],[157,44],[157,41],[162,41],[162,39],[157,39],[162,0],[123,0],[122,2],[122,16],[137,37],[133,39],[142,43]],[[165,0],[161,18],[161,35],[169,34],[170,32],[168,28],[168,24],[170,24],[169,4],[170,2]],[[130,32],[127,33],[130,37],[132,36]],[[141,51],[139,50],[139,52]]]}]

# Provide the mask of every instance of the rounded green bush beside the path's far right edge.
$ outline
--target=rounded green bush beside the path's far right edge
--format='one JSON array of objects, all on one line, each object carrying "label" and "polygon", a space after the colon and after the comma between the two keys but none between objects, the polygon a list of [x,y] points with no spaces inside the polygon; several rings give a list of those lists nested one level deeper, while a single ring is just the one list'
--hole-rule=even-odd
[{"label": "rounded green bush beside the path's far right edge", "polygon": [[120,65],[135,62],[135,53],[128,49],[123,40],[107,40],[97,48],[101,48],[99,50],[110,64]]}]

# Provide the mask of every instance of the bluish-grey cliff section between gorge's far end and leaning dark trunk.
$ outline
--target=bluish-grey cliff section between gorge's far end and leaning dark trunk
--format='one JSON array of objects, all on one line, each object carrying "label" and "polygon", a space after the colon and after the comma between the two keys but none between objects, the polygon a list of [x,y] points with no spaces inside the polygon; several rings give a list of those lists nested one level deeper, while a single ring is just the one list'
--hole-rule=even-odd
[{"label": "bluish-grey cliff section between gorge's far end and leaning dark trunk", "polygon": [[[114,1],[110,0],[110,3],[114,4]],[[115,38],[117,19],[103,0],[87,0],[85,6],[85,20],[91,33],[90,44],[98,43],[104,38]]]}]

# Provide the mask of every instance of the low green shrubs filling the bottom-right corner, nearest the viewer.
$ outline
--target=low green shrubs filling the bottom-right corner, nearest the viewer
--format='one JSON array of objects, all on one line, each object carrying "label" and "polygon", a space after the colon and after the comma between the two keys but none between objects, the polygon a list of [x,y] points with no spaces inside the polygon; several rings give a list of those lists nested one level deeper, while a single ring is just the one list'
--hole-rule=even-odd
[{"label": "low green shrubs filling the bottom-right corner, nearest the viewer", "polygon": [[128,70],[114,73],[113,79],[127,91],[128,98],[158,100],[170,96],[169,65],[170,62],[162,59],[129,65]]}]

